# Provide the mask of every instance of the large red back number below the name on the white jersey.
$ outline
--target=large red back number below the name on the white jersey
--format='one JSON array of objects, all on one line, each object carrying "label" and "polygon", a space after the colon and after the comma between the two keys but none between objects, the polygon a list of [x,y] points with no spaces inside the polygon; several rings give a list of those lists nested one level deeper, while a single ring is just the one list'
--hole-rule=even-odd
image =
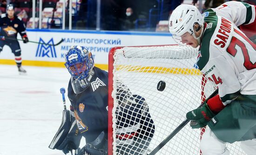
[{"label": "large red back number below the name on the white jersey", "polygon": [[[239,34],[241,37],[243,37],[243,39],[245,39],[252,47],[254,50],[256,50],[256,44],[252,43],[247,37],[245,37],[243,35],[243,33],[239,32],[238,30],[234,29],[234,31]],[[243,66],[247,69],[247,70],[251,70],[256,68],[256,62],[252,63],[250,61],[250,57],[249,57],[249,53],[248,50],[245,46],[245,44],[243,43],[243,41],[239,40],[236,37],[232,37],[229,47],[227,48],[227,52],[231,55],[231,56],[236,56],[237,53],[237,46],[241,48],[242,52],[243,52],[243,57],[244,57],[244,63]]]}]

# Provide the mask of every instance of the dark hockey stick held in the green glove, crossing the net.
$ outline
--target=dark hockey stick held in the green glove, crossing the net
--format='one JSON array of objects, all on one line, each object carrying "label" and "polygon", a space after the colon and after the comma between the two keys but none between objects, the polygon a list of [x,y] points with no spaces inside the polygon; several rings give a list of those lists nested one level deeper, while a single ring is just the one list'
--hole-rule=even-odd
[{"label": "dark hockey stick held in the green glove, crossing the net", "polygon": [[[207,102],[209,99],[214,97],[216,94],[218,94],[218,89],[216,89],[207,99],[205,99],[205,101],[198,108],[202,107],[202,105],[205,102]],[[173,130],[173,132],[169,136],[167,136],[157,147],[155,147],[155,149],[153,149],[153,151],[151,151],[150,154],[148,154],[148,155],[155,155],[160,149],[162,149],[162,147],[166,143],[168,143],[188,123],[189,123],[188,119],[183,121],[182,124],[180,124],[175,130]]]}]

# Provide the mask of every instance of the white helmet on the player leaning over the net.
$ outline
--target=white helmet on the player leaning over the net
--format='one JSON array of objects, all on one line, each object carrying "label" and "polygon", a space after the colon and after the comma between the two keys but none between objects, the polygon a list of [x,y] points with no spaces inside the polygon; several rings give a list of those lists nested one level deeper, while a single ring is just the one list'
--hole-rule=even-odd
[{"label": "white helmet on the player leaning over the net", "polygon": [[195,36],[195,32],[202,29],[203,22],[203,16],[195,6],[182,4],[177,6],[170,16],[169,31],[174,40],[180,45],[185,45],[182,43],[181,36],[186,32],[193,35],[198,44],[200,44],[202,32],[200,36]]}]

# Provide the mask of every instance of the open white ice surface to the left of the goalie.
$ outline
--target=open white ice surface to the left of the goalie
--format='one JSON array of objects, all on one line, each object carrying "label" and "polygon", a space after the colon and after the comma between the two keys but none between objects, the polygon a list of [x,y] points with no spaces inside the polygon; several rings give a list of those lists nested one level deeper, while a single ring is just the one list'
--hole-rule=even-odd
[{"label": "open white ice surface to the left of the goalie", "polygon": [[64,155],[49,149],[61,124],[60,88],[70,78],[66,68],[0,65],[0,155]]}]

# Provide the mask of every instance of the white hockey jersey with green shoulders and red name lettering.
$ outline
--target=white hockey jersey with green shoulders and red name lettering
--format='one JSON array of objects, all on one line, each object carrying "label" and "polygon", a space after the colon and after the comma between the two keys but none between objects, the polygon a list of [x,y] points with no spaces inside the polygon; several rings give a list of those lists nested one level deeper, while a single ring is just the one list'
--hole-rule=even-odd
[{"label": "white hockey jersey with green shoulders and red name lettering", "polygon": [[[256,7],[229,1],[203,13],[205,30],[197,65],[219,87],[224,105],[241,94],[256,94],[256,44],[239,25],[256,26]],[[255,29],[254,29],[255,30]]]}]

